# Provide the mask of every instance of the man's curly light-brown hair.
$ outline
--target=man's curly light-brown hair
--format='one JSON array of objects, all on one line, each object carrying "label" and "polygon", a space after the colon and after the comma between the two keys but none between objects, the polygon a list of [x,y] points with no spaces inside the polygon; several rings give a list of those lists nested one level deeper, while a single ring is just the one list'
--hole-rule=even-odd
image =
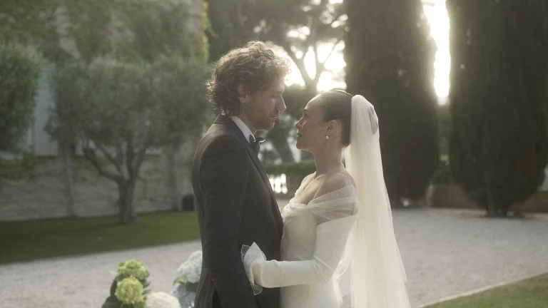
[{"label": "man's curly light-brown hair", "polygon": [[275,79],[290,72],[289,61],[276,56],[260,41],[250,41],[233,49],[217,62],[207,86],[213,108],[226,116],[240,113],[238,87],[243,84],[247,94],[265,90]]}]

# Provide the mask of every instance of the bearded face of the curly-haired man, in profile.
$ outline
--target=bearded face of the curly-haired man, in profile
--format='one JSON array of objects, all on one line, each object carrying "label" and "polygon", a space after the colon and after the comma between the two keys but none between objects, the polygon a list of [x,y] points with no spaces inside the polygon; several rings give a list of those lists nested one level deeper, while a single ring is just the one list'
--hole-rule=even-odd
[{"label": "bearded face of the curly-haired man, in profile", "polygon": [[285,91],[284,78],[280,77],[276,78],[268,88],[240,97],[240,118],[248,124],[253,133],[255,130],[274,128],[280,112],[285,111],[283,91]]}]

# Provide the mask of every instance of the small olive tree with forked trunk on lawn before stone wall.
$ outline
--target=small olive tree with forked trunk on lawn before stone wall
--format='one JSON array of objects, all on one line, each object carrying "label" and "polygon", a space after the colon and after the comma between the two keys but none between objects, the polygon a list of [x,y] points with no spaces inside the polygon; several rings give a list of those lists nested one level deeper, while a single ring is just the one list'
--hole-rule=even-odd
[{"label": "small olive tree with forked trunk on lawn before stone wall", "polygon": [[145,64],[99,58],[90,65],[71,63],[53,78],[58,103],[49,131],[61,142],[79,141],[84,157],[118,185],[122,223],[136,218],[133,190],[146,150],[157,143],[157,108],[147,73]]}]

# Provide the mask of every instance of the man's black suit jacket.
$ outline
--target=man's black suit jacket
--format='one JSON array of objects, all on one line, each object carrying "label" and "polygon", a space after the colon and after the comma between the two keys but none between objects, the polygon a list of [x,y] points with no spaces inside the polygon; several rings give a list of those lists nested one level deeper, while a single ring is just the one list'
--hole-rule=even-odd
[{"label": "man's black suit jacket", "polygon": [[282,217],[257,154],[227,116],[198,144],[192,185],[203,249],[196,308],[278,308],[278,288],[253,295],[241,249],[256,242],[280,260]]}]

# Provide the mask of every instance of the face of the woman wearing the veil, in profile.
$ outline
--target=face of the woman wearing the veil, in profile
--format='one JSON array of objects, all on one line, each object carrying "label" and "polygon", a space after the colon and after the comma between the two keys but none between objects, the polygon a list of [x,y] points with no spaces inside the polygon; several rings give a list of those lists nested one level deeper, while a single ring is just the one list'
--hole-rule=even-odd
[{"label": "face of the woman wearing the veil, in profile", "polygon": [[299,150],[314,152],[326,141],[328,123],[324,121],[323,111],[318,104],[318,99],[313,98],[308,102],[303,117],[295,124],[297,128],[297,145]]}]

